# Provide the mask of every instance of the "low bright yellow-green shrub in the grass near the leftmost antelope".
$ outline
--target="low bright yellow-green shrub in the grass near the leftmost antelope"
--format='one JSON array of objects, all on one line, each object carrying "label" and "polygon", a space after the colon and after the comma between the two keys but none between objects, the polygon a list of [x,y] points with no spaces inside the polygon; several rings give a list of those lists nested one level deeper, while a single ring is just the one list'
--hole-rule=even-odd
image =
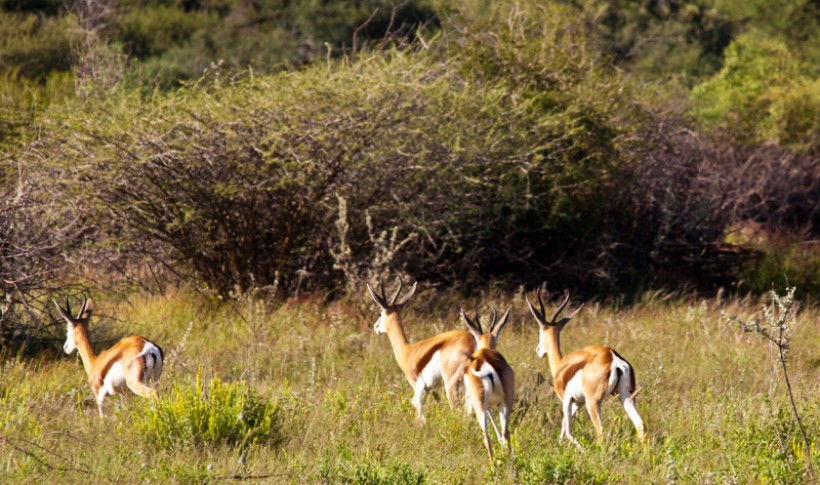
[{"label": "low bright yellow-green shrub in the grass near the leftmost antelope", "polygon": [[281,440],[279,408],[244,382],[206,384],[201,370],[191,385],[176,384],[154,403],[142,403],[134,427],[162,448],[197,444],[230,444],[246,448]]}]

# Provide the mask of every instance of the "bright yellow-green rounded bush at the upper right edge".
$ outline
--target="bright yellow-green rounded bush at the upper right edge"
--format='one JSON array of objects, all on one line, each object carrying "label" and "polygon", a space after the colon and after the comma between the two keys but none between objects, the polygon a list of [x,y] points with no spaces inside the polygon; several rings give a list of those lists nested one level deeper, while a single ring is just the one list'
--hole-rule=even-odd
[{"label": "bright yellow-green rounded bush at the upper right edge", "polygon": [[820,140],[820,84],[780,41],[740,36],[720,73],[692,91],[693,113],[709,129],[741,142],[814,150]]}]

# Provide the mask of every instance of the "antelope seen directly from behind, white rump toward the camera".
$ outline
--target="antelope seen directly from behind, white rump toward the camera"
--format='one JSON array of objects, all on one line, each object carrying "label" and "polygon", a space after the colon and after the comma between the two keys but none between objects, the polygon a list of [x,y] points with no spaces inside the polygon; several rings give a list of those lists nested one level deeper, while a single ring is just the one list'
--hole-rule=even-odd
[{"label": "antelope seen directly from behind, white rump toward the camera", "polygon": [[[507,448],[510,448],[510,412],[515,401],[515,373],[512,367],[504,359],[500,352],[495,350],[498,334],[507,323],[510,317],[510,308],[501,317],[496,326],[496,313],[493,310],[493,318],[490,322],[489,330],[485,333],[481,328],[478,319],[478,311],[475,313],[475,321],[470,320],[464,309],[461,309],[461,319],[467,325],[467,329],[476,340],[476,351],[468,362],[468,371],[464,374],[464,387],[467,389],[467,405],[472,405],[472,411],[481,427],[484,435],[484,447],[487,448],[487,455],[490,462],[493,461],[493,449],[490,445],[490,435],[487,433],[487,418],[493,423],[496,437]],[[498,417],[501,421],[501,432],[493,420],[490,412],[490,405],[499,403]],[[503,435],[502,435],[503,434]]]}]

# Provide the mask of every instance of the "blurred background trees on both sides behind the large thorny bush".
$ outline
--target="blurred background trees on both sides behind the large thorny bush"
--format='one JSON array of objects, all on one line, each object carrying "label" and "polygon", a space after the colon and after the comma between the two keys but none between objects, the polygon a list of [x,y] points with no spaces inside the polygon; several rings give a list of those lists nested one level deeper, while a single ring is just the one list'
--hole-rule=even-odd
[{"label": "blurred background trees on both sides behind the large thorny bush", "polygon": [[[601,57],[691,90],[690,114],[740,143],[816,155],[820,14],[812,0],[595,0],[563,4]],[[391,0],[42,0],[0,4],[0,143],[33,111],[101,77],[150,91],[218,68],[264,74],[338,58],[367,42],[407,46],[493,2]],[[447,28],[445,28],[445,31]],[[107,76],[90,73],[100,51]],[[68,81],[67,81],[68,80]],[[82,92],[82,89],[77,91]],[[9,105],[12,109],[9,109]]]}]

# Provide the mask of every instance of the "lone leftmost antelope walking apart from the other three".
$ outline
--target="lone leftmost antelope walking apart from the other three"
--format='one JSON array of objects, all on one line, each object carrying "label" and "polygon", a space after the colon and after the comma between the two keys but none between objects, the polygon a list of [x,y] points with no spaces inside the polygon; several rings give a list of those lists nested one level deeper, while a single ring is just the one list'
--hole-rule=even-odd
[{"label": "lone leftmost antelope walking apart from the other three", "polygon": [[74,350],[80,352],[83,367],[88,374],[88,383],[97,399],[97,408],[100,417],[105,417],[102,403],[107,394],[114,394],[124,385],[134,394],[143,397],[157,398],[157,391],[149,387],[149,383],[158,383],[162,374],[162,349],[148,339],[139,336],[125,337],[113,347],[94,354],[91,342],[88,340],[88,320],[91,318],[92,301],[83,298],[83,305],[76,317],[71,316],[71,305],[66,298],[66,307],[60,307],[57,302],[54,306],[68,323],[68,331],[63,350],[71,354]]}]

